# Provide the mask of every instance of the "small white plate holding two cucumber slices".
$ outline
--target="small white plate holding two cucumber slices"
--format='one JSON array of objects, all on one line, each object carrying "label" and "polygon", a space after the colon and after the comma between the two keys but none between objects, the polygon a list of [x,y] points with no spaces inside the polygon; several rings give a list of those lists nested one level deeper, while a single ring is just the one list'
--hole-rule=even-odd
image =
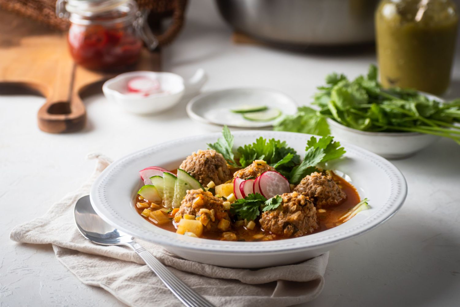
[{"label": "small white plate holding two cucumber slices", "polygon": [[273,126],[273,121],[254,122],[243,118],[242,114],[230,110],[249,106],[265,105],[282,111],[282,115],[294,114],[297,105],[288,95],[262,88],[232,88],[196,96],[187,104],[187,114],[197,122],[227,125],[240,128],[261,128]]}]

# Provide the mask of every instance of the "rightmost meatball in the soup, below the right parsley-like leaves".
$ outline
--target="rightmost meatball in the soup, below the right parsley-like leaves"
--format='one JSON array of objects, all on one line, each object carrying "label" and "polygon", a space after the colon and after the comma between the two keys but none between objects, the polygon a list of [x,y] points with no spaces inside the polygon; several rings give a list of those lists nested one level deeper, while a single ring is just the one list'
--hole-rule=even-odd
[{"label": "rightmost meatball in the soup, below the right parsley-like leaves", "polygon": [[338,205],[346,198],[331,176],[317,172],[302,179],[294,191],[309,197],[317,208]]}]

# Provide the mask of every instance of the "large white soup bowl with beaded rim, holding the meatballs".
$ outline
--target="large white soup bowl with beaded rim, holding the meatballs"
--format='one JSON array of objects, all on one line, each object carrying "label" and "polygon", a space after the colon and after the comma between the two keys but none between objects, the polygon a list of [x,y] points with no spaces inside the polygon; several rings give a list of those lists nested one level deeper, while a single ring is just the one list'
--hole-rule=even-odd
[{"label": "large white soup bowl with beaded rim, holding the meatballs", "polygon": [[[299,154],[311,135],[275,131],[236,131],[235,146],[256,138],[284,140]],[[344,173],[361,198],[368,197],[371,209],[344,224],[323,232],[265,242],[227,242],[178,235],[144,220],[134,208],[140,185],[138,171],[148,166],[177,168],[191,152],[207,148],[221,135],[212,133],[175,139],[132,153],[106,168],[91,187],[91,203],[106,222],[136,238],[163,246],[171,253],[207,264],[227,267],[266,267],[295,263],[321,255],[334,245],[368,232],[388,220],[403,205],[407,185],[403,174],[384,158],[355,145],[343,143],[347,151],[329,169]],[[357,253],[359,251],[357,250]]]}]

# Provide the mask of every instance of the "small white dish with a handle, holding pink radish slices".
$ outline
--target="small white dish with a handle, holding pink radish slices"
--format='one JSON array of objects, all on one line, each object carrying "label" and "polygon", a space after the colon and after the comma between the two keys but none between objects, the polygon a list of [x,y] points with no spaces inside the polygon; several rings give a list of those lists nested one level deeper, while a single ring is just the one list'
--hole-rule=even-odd
[{"label": "small white dish with a handle, holding pink radish slices", "polygon": [[[157,79],[162,93],[141,96],[128,93],[128,81],[135,77]],[[152,114],[172,108],[184,95],[196,95],[206,83],[207,75],[199,69],[189,80],[169,72],[132,71],[105,81],[102,91],[105,97],[122,109],[135,114]]]}]

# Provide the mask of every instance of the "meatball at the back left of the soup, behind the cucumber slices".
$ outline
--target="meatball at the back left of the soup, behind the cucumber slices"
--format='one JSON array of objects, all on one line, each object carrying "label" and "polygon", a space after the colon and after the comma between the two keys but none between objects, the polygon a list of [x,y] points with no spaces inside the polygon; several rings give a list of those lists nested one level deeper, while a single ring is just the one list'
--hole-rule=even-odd
[{"label": "meatball at the back left of the soup, behind the cucumber slices", "polygon": [[202,185],[207,185],[211,180],[220,185],[231,179],[227,162],[217,151],[199,150],[188,156],[179,168],[183,169]]}]

